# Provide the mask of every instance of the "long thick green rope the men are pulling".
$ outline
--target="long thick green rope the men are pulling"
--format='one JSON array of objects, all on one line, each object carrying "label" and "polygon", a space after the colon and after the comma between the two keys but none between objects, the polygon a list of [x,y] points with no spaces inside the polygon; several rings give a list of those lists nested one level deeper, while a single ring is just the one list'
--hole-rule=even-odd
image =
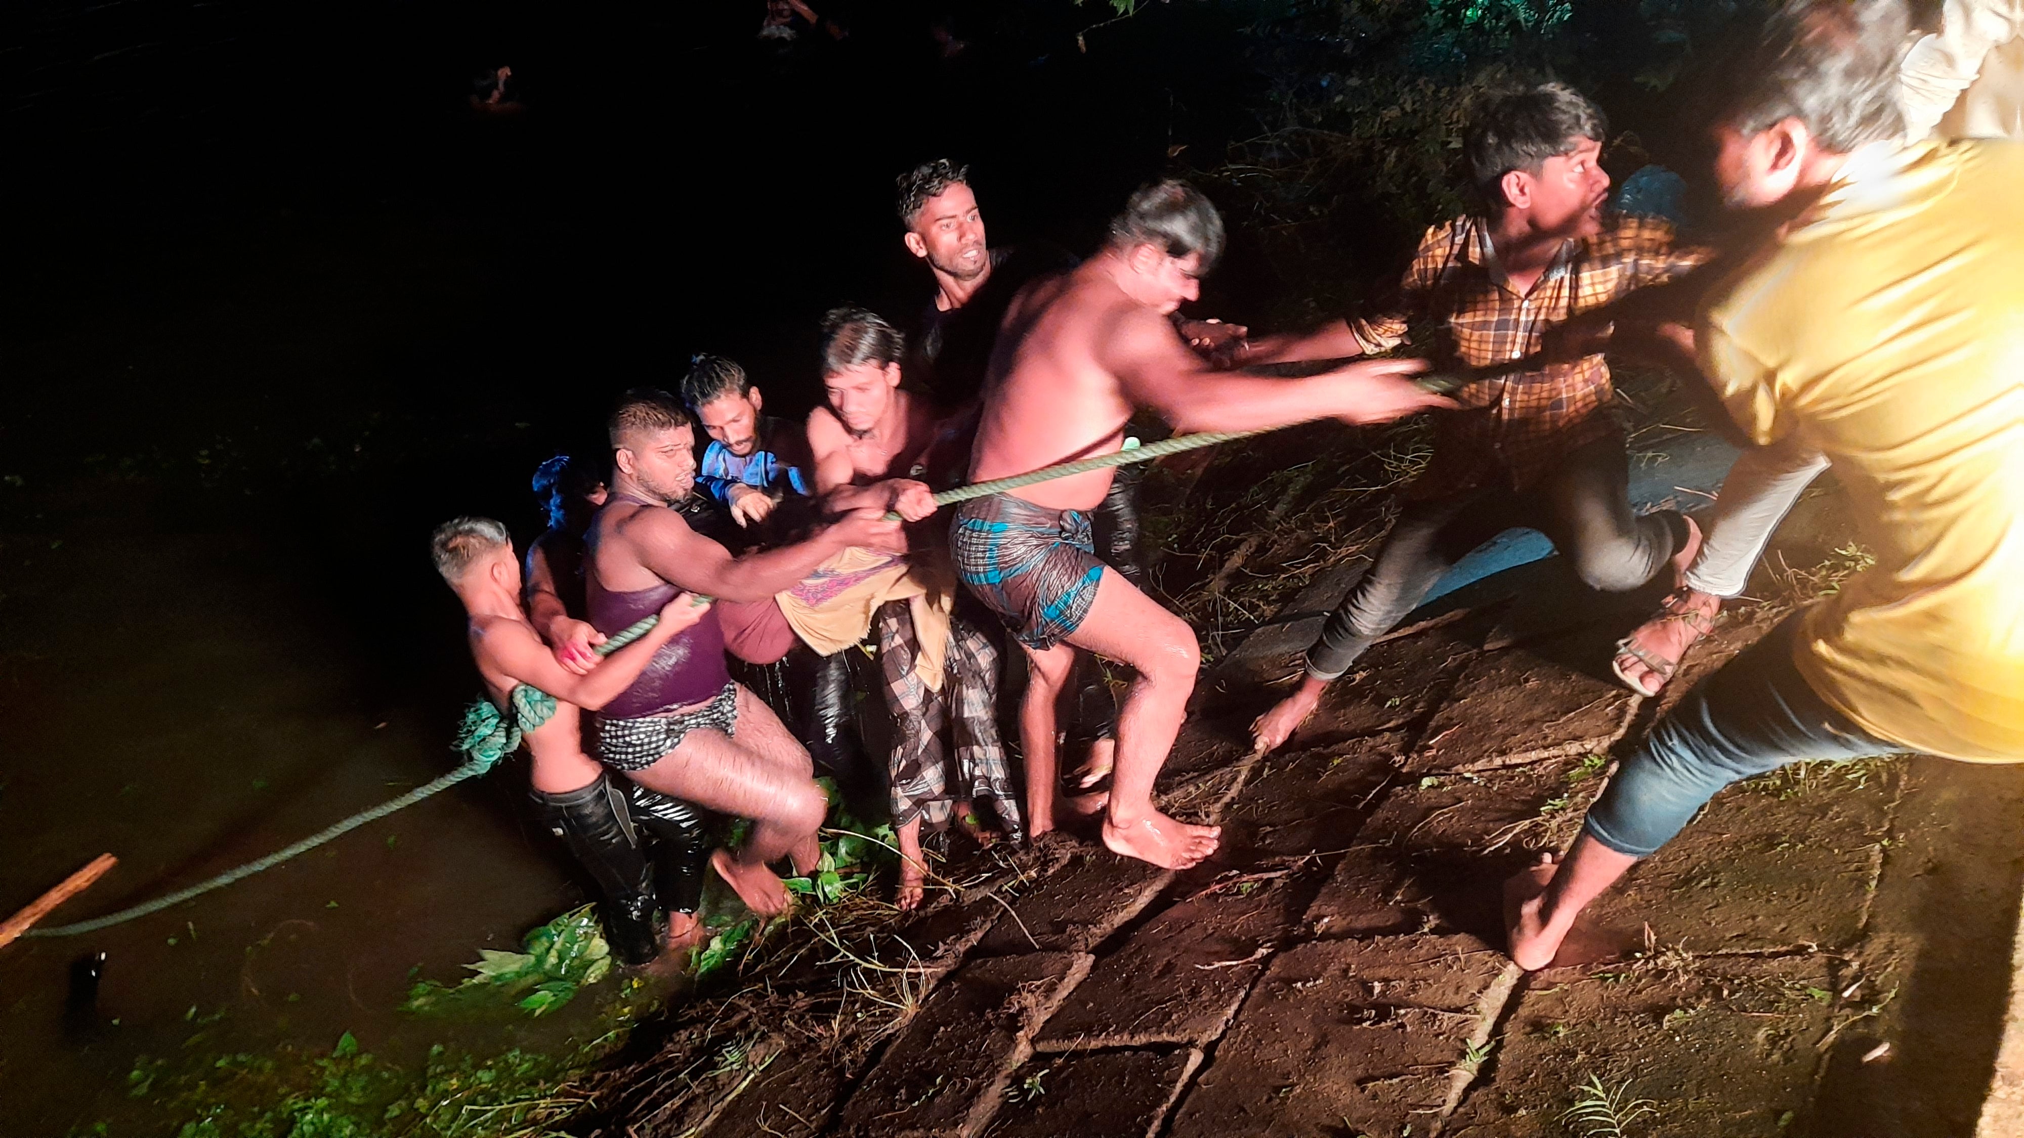
[{"label": "long thick green rope the men are pulling", "polygon": [[[1451,391],[1457,381],[1453,377],[1429,373],[1429,375],[1415,377],[1415,383],[1419,383],[1421,387],[1427,387],[1429,391]],[[1287,425],[1293,425],[1293,423],[1287,423]],[[1089,474],[1091,470],[1105,470],[1105,468],[1111,468],[1111,466],[1129,466],[1129,464],[1135,464],[1135,462],[1152,462],[1156,458],[1166,458],[1170,454],[1182,454],[1182,452],[1200,450],[1200,448],[1208,448],[1208,445],[1216,445],[1216,443],[1229,443],[1229,441],[1237,441],[1237,439],[1249,439],[1253,435],[1263,435],[1265,431],[1273,431],[1273,429],[1279,429],[1279,427],[1265,427],[1265,429],[1257,429],[1257,431],[1196,431],[1192,435],[1174,435],[1170,439],[1162,439],[1162,441],[1156,441],[1156,443],[1146,443],[1146,445],[1137,445],[1137,448],[1129,448],[1129,450],[1117,450],[1117,452],[1111,452],[1111,454],[1099,454],[1099,456],[1091,456],[1091,458],[1079,458],[1075,462],[1057,462],[1055,466],[1042,466],[1040,470],[1034,470],[1030,474],[1014,474],[1012,478],[992,478],[990,482],[974,482],[969,486],[957,486],[953,490],[943,490],[943,492],[935,494],[935,506],[937,508],[939,506],[953,506],[955,502],[967,502],[972,498],[986,498],[990,494],[1004,494],[1008,490],[1020,490],[1024,486],[1034,486],[1038,482],[1052,482],[1055,478],[1069,478],[1069,476],[1075,476],[1075,474]],[[893,516],[897,516],[897,514],[893,514]],[[698,597],[696,599],[696,603],[704,603],[704,601],[708,601],[708,597]],[[623,646],[631,644],[634,640],[640,640],[642,636],[646,636],[648,632],[652,632],[652,628],[656,624],[660,624],[660,616],[658,614],[640,620],[638,624],[634,624],[634,626],[617,632],[615,636],[611,636],[603,644],[599,644],[597,646],[597,654],[599,656],[609,656],[609,654],[617,652],[619,648],[623,648]],[[518,725],[520,713],[530,711],[530,709],[522,707],[522,695],[520,695],[522,690],[530,693],[530,697],[526,697],[530,703],[538,705],[538,701],[549,701],[546,715],[540,715],[540,719],[536,719],[532,723],[534,727],[538,727],[540,721],[546,721],[546,717],[555,713],[555,697],[551,697],[551,695],[546,695],[546,693],[542,693],[538,688],[532,688],[528,684],[520,684],[512,693],[512,703],[514,703],[514,709],[516,709],[516,717],[514,717],[516,721],[512,725],[504,723],[504,717],[500,717],[498,711],[492,709],[490,701],[480,701],[478,707],[492,709],[494,719],[488,721],[488,723],[474,723],[476,717],[468,717],[466,719],[466,729],[459,733],[457,745],[459,745],[459,749],[466,749],[472,755],[472,759],[468,763],[463,763],[461,767],[445,774],[443,778],[437,778],[435,782],[417,786],[415,790],[403,794],[401,798],[395,798],[391,802],[383,802],[383,804],[378,804],[378,806],[374,806],[370,810],[360,810],[358,814],[352,814],[350,818],[346,818],[346,820],[342,820],[342,822],[338,822],[334,826],[328,826],[328,828],[324,828],[324,830],[320,830],[320,832],[316,832],[316,834],[312,834],[312,836],[308,836],[308,838],[304,838],[304,840],[300,840],[300,842],[296,842],[296,844],[291,844],[291,846],[287,846],[283,850],[275,850],[275,852],[271,852],[271,855],[267,855],[267,857],[263,857],[259,861],[249,861],[247,865],[241,865],[239,869],[229,869],[229,871],[213,877],[210,881],[202,881],[202,883],[192,885],[188,889],[178,889],[176,893],[170,893],[168,897],[156,897],[154,901],[148,901],[144,905],[134,905],[130,909],[119,909],[117,913],[107,913],[107,915],[97,917],[93,921],[79,921],[75,925],[53,925],[53,927],[28,929],[22,936],[51,936],[51,938],[55,938],[55,936],[83,936],[83,933],[93,933],[93,931],[99,931],[99,929],[107,929],[107,927],[117,925],[117,923],[132,921],[136,917],[146,917],[148,913],[160,913],[162,909],[168,909],[170,905],[180,905],[182,901],[188,901],[190,897],[200,897],[204,893],[210,893],[213,889],[223,889],[223,887],[227,887],[227,885],[231,885],[235,881],[243,881],[247,877],[253,877],[255,873],[259,873],[263,869],[273,869],[273,867],[281,865],[283,861],[287,861],[287,859],[291,859],[296,855],[314,850],[316,846],[320,846],[324,842],[330,842],[330,840],[334,840],[334,838],[338,838],[342,834],[348,834],[348,832],[356,830],[358,826],[364,826],[366,822],[376,822],[376,820],[385,818],[387,814],[393,814],[395,810],[407,810],[409,806],[413,806],[413,804],[417,804],[417,802],[421,802],[421,800],[425,800],[429,796],[441,794],[441,792],[449,790],[451,786],[455,786],[455,784],[459,784],[459,782],[463,782],[468,778],[482,776],[488,769],[492,769],[500,759],[504,759],[506,755],[510,755],[520,745],[520,725]],[[478,711],[478,707],[474,707],[474,711]]]}]

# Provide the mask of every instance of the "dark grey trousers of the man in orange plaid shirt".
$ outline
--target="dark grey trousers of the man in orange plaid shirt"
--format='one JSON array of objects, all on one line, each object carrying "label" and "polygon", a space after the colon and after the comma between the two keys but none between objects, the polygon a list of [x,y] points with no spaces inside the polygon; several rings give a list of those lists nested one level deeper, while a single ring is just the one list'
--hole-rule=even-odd
[{"label": "dark grey trousers of the man in orange plaid shirt", "polygon": [[1650,581],[1686,541],[1674,510],[1631,512],[1629,458],[1623,437],[1607,437],[1569,456],[1526,492],[1471,490],[1407,502],[1378,551],[1378,563],[1330,614],[1308,648],[1308,674],[1334,680],[1350,670],[1471,549],[1492,537],[1534,526],[1589,587],[1621,593]]}]

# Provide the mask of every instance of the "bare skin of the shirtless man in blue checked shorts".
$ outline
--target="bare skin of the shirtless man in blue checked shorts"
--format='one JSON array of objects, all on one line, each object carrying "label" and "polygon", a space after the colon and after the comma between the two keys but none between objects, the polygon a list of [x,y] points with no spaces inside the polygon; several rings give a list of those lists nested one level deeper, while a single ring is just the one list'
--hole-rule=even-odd
[{"label": "bare skin of the shirtless man in blue checked shorts", "polygon": [[[1277,427],[1318,415],[1368,423],[1447,405],[1405,379],[1423,367],[1419,360],[1370,360],[1297,381],[1216,373],[1168,320],[1198,296],[1198,255],[1172,257],[1131,245],[1028,286],[998,336],[969,480],[1115,452],[1137,407],[1158,411],[1178,431],[1204,431]],[[1109,480],[1107,470],[1079,474],[1020,496],[1089,510],[1103,500]],[[1030,832],[1055,828],[1057,808],[1089,804],[1063,800],[1057,782],[1055,707],[1077,650],[1137,672],[1119,713],[1111,792],[1101,802],[1103,842],[1168,869],[1196,865],[1214,852],[1218,828],[1158,812],[1152,786],[1186,715],[1200,648],[1186,622],[1109,569],[1081,628],[1052,648],[1026,648],[1032,682],[1020,709],[1020,741]]]}]

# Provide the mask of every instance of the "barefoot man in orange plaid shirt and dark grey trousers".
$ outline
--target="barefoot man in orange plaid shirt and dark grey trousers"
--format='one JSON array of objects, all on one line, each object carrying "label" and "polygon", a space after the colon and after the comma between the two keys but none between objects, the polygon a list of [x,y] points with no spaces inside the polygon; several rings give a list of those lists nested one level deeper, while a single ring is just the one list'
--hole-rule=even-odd
[{"label": "barefoot man in orange plaid shirt and dark grey trousers", "polygon": [[[1384,352],[1407,342],[1409,324],[1431,322],[1437,364],[1484,369],[1538,356],[1573,316],[1704,263],[1708,253],[1676,247],[1664,221],[1603,215],[1605,134],[1601,109],[1561,83],[1490,99],[1463,140],[1488,213],[1429,229],[1399,288],[1362,316],[1255,342],[1245,362]],[[1461,409],[1435,419],[1433,460],[1407,488],[1376,565],[1308,650],[1299,688],[1253,725],[1261,751],[1285,743],[1330,680],[1500,531],[1544,531],[1585,583],[1607,591],[1678,569],[1700,545],[1680,512],[1631,514],[1599,352],[1506,371],[1453,397]]]}]

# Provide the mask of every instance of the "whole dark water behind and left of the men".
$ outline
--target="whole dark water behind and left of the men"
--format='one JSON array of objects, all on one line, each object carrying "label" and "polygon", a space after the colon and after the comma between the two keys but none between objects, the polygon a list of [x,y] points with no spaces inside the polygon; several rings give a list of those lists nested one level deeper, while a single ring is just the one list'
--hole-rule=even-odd
[{"label": "whole dark water behind and left of the men", "polygon": [[[816,318],[911,316],[891,178],[976,162],[998,241],[1087,249],[1168,166],[1251,130],[1235,16],[925,6],[842,45],[751,40],[757,6],[20,4],[0,43],[0,909],[91,857],[51,921],[249,861],[453,765],[476,693],[429,529],[595,448],[611,395],[741,358],[814,395]],[[463,105],[498,63],[526,111]],[[524,771],[79,940],[0,950],[0,1134],[168,1126],[138,1055],[275,1045],[415,1063],[561,1047],[553,1021],[413,1021],[419,976],[583,899]],[[73,960],[105,952],[93,1014]],[[223,1014],[221,1014],[223,1012]],[[113,1023],[117,1021],[117,1025]]]}]

